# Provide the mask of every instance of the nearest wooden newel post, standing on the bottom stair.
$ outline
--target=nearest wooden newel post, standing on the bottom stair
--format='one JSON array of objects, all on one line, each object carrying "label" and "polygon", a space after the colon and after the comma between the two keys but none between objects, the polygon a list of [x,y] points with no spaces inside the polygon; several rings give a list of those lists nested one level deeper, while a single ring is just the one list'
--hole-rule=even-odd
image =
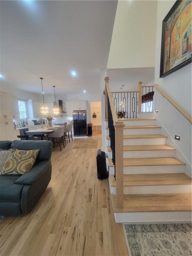
[{"label": "nearest wooden newel post, standing on the bottom stair", "polygon": [[115,126],[115,177],[117,208],[123,208],[123,121],[116,121]]}]

